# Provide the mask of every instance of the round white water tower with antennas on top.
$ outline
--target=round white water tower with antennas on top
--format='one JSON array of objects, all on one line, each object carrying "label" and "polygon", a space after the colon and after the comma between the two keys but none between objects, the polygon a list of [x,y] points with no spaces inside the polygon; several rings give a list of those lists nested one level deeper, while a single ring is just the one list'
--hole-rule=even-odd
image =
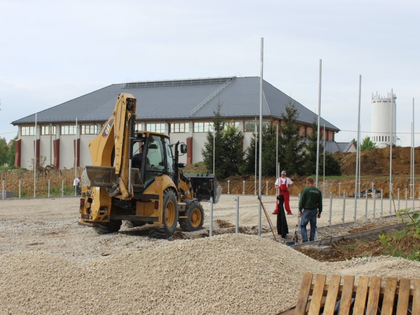
[{"label": "round white water tower with antennas on top", "polygon": [[376,143],[379,148],[383,148],[392,143],[395,144],[397,140],[396,133],[396,95],[393,96],[392,103],[392,139],[391,132],[391,93],[386,97],[381,97],[376,93],[372,93],[372,136],[371,140]]}]

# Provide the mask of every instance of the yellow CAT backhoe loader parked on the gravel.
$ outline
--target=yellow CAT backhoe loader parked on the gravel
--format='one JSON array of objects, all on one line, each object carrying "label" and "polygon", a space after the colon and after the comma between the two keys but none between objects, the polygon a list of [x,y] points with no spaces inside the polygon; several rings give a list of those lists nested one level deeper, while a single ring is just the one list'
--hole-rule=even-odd
[{"label": "yellow CAT backhoe loader parked on the gravel", "polygon": [[93,223],[99,234],[119,231],[123,220],[129,227],[152,228],[147,231],[154,237],[172,236],[178,222],[183,231],[201,230],[200,201],[212,197],[217,203],[220,197],[215,175],[182,172],[178,157],[186,145],[135,130],[135,110],[136,99],[121,93],[112,116],[88,143],[92,165],[82,173],[81,221]]}]

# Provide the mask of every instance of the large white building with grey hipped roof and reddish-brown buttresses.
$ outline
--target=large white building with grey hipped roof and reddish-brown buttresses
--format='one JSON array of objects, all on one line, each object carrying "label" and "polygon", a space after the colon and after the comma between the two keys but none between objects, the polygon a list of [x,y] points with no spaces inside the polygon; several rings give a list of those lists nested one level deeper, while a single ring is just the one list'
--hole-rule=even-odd
[{"label": "large white building with grey hipped roof and reddish-brown buttresses", "polygon": [[[297,123],[301,126],[301,134],[309,134],[317,116],[267,81],[263,81],[262,85],[263,119],[282,123],[281,115],[292,103],[299,112]],[[234,124],[245,133],[245,150],[249,146],[255,121],[259,120],[259,91],[259,77],[112,84],[37,113],[37,129],[35,114],[13,121],[13,125],[19,126],[15,165],[29,167],[31,164],[35,154],[35,134],[37,156],[45,157],[47,164],[60,168],[74,167],[77,152],[78,166],[89,165],[91,159],[87,143],[111,116],[120,93],[130,93],[137,99],[137,130],[168,134],[170,128],[172,143],[180,141],[187,144],[188,153],[180,158],[180,162],[203,160],[201,150],[207,132],[212,128],[211,118],[218,103],[222,104],[221,115],[226,118],[226,123]],[[321,118],[321,125],[324,124],[326,141],[331,147],[337,147],[334,136],[339,129]]]}]

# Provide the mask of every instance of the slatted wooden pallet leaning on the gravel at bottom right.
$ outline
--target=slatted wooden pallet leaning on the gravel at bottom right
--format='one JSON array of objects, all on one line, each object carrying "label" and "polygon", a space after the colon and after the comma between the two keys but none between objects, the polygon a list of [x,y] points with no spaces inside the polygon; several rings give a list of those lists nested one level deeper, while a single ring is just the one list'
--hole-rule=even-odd
[{"label": "slatted wooden pallet leaning on the gravel at bottom right", "polygon": [[[303,275],[296,306],[278,315],[334,315],[336,301],[340,299],[338,315],[376,315],[378,306],[381,315],[392,315],[394,304],[397,315],[407,315],[409,302],[412,313],[420,315],[420,279],[414,280],[414,289],[410,288],[410,279],[388,277],[386,285],[381,286],[381,277],[359,276],[358,285],[354,285],[354,276],[333,275],[330,284],[326,284],[326,275],[317,275],[312,283],[313,274]],[[308,301],[309,296],[312,296]],[[354,303],[352,299],[354,298]],[[381,303],[379,303],[381,301]],[[366,313],[365,313],[366,312]]]}]

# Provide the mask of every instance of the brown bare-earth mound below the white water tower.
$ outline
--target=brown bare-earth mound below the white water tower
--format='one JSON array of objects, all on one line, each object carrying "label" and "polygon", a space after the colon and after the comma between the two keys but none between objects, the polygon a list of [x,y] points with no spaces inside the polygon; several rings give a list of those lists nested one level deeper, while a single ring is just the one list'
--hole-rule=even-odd
[{"label": "brown bare-earth mound below the white water tower", "polygon": [[[344,175],[355,175],[356,153],[336,152],[334,157],[341,163]],[[420,165],[420,147],[415,148],[415,167]],[[389,174],[389,148],[365,150],[360,153],[360,171],[362,175]],[[392,148],[393,175],[410,174],[410,147]]]}]

